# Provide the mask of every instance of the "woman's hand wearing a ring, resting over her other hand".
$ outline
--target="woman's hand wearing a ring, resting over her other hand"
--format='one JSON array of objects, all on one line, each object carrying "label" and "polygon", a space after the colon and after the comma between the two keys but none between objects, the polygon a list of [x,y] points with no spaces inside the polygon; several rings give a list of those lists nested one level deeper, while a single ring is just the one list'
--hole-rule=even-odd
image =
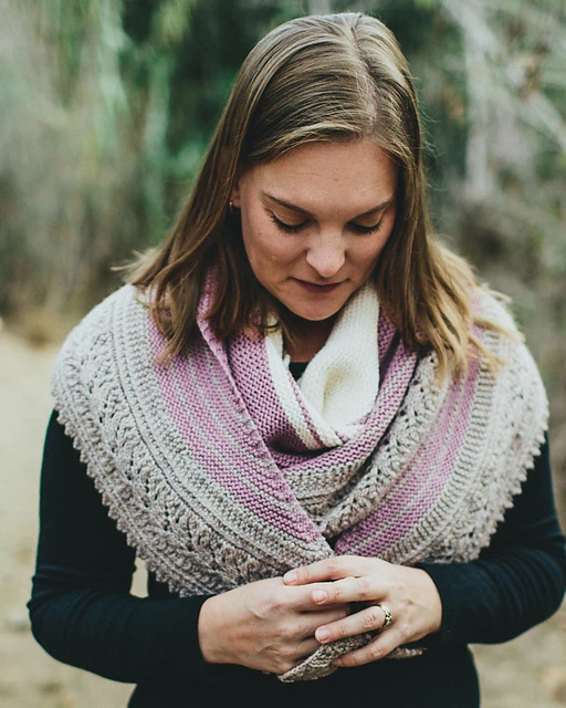
[{"label": "woman's hand wearing a ring, resting over her other hand", "polygon": [[[365,632],[379,632],[369,644],[340,656],[336,666],[359,666],[387,656],[401,644],[417,642],[438,632],[442,604],[430,575],[419,569],[394,565],[375,558],[338,555],[286,573],[287,585],[327,581],[324,590],[313,589],[316,604],[361,603],[363,608],[344,620],[321,625],[315,638],[321,644]],[[386,627],[386,612],[391,622]],[[384,628],[382,632],[380,629]]]}]

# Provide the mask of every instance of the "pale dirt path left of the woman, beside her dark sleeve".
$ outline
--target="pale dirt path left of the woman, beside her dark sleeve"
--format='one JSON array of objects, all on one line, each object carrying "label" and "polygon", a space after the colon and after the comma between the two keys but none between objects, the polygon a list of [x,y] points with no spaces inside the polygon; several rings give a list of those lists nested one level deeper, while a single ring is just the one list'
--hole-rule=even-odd
[{"label": "pale dirt path left of the woman, beside her dark sleeve", "polygon": [[63,666],[34,642],[27,617],[41,449],[55,350],[0,332],[0,706],[123,708],[129,686]]}]

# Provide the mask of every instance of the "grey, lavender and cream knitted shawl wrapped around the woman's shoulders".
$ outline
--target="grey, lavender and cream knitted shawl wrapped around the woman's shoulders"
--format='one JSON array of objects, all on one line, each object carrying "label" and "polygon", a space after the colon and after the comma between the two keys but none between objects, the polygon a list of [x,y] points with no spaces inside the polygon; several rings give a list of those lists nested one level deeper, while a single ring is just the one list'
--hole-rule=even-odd
[{"label": "grey, lavender and cream knitted shawl wrapped around the woman's shoulders", "polygon": [[[365,291],[361,304],[358,295],[347,304],[344,326],[359,327]],[[122,288],[71,333],[53,377],[60,420],[109,516],[159,581],[181,596],[218,594],[333,554],[407,565],[479,556],[546,429],[541,377],[518,337],[476,329],[504,364],[493,374],[472,361],[460,381],[438,381],[436,354],[406,351],[376,315],[365,327],[377,336],[375,400],[357,420],[352,412],[339,420],[335,406],[328,424],[271,337],[214,337],[207,298],[200,334],[165,365],[156,363],[165,342],[147,306]],[[479,292],[478,303],[514,330],[492,296]],[[343,364],[331,388],[339,388],[350,356],[340,358],[338,340],[332,346]],[[316,378],[315,360],[304,377],[311,367]],[[321,646],[280,678],[326,676],[369,638]]]}]

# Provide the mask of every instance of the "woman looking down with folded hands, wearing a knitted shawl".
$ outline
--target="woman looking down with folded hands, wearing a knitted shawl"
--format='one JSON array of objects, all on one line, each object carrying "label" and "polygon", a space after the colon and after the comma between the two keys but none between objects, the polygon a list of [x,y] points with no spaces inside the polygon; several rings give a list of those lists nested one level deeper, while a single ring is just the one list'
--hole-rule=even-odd
[{"label": "woman looking down with folded hands, wearing a knitted shawl", "polygon": [[379,21],[283,24],[168,240],[65,343],[33,631],[130,706],[478,706],[467,644],[557,608],[544,391],[436,243],[421,146]]}]

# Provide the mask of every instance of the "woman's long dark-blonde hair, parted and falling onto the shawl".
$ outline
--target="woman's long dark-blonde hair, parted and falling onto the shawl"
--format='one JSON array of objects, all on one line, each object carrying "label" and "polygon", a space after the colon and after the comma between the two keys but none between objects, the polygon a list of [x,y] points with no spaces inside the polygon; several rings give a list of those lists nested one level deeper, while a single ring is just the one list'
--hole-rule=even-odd
[{"label": "woman's long dark-blonde hair, parted and falling onto the shawl", "polygon": [[394,34],[354,12],[286,22],[244,61],[177,223],[132,278],[150,290],[167,356],[180,353],[195,332],[211,264],[218,280],[207,316],[217,336],[268,329],[276,303],[253,275],[239,219],[228,208],[237,176],[306,143],[365,139],[399,165],[397,219],[375,272],[384,312],[409,350],[437,352],[441,373],[464,372],[470,356],[494,364],[472,334],[473,273],[432,231],[409,67]]}]

